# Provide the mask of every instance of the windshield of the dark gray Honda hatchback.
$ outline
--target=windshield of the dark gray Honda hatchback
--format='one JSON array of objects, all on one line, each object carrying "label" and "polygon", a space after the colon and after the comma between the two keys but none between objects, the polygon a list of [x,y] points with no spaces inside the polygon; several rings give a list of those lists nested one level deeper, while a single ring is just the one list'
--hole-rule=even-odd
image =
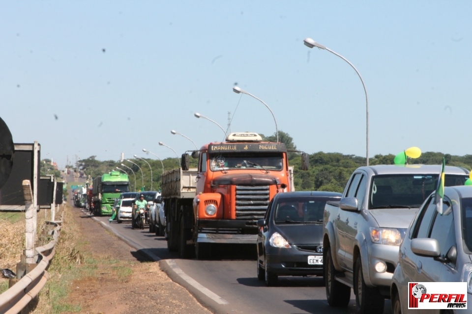
[{"label": "windshield of the dark gray Honda hatchback", "polygon": [[275,223],[322,223],[327,201],[339,201],[333,197],[280,198],[275,205]]}]

